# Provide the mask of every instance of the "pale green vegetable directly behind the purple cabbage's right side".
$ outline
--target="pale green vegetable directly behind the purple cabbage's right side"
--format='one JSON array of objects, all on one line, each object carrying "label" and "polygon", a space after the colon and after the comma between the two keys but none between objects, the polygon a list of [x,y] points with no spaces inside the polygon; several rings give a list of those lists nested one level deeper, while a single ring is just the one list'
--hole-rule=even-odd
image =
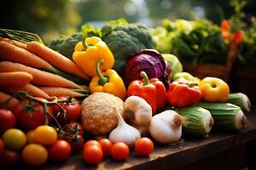
[{"label": "pale green vegetable directly behind the purple cabbage's right side", "polygon": [[172,69],[172,74],[170,74],[170,78],[172,80],[174,75],[183,71],[183,65],[177,59],[177,57],[173,54],[162,54],[162,56],[167,61],[167,63],[170,65],[170,67]]}]

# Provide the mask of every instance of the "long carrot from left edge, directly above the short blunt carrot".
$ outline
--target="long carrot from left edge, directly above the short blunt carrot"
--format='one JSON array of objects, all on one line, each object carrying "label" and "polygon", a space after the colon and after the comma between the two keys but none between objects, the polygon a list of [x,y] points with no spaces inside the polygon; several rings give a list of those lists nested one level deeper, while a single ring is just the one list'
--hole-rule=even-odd
[{"label": "long carrot from left edge, directly above the short blunt carrot", "polygon": [[46,71],[39,71],[38,69],[34,69],[26,65],[21,65],[20,63],[12,63],[9,61],[0,62],[0,72],[12,71],[26,71],[32,74],[32,84],[63,88],[80,88],[78,84],[71,82],[64,77],[60,77]]}]

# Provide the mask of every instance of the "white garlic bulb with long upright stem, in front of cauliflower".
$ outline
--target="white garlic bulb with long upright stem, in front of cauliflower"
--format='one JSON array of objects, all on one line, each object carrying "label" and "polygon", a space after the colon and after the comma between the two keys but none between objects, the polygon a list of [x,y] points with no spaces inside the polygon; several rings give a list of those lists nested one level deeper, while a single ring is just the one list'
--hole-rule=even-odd
[{"label": "white garlic bulb with long upright stem, in front of cauliflower", "polygon": [[118,126],[109,133],[108,139],[113,143],[123,142],[130,147],[134,146],[136,140],[141,138],[141,134],[137,128],[131,127],[124,121],[116,107],[114,107],[113,110],[115,111],[119,123]]}]

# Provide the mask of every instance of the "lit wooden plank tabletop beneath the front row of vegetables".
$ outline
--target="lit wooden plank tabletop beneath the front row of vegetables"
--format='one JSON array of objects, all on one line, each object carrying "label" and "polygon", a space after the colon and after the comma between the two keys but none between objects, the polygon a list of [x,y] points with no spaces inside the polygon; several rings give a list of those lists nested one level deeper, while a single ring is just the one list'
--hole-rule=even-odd
[{"label": "lit wooden plank tabletop beneath the front row of vegetables", "polygon": [[211,132],[207,138],[186,137],[177,144],[155,145],[154,153],[149,157],[136,156],[134,150],[131,150],[131,155],[126,161],[113,161],[111,158],[105,158],[101,164],[89,166],[84,163],[81,152],[71,156],[68,161],[59,164],[49,163],[41,169],[176,169],[206,157],[216,156],[220,152],[232,150],[232,148],[246,147],[243,144],[255,141],[256,111],[249,113],[247,118],[247,127],[238,133]]}]

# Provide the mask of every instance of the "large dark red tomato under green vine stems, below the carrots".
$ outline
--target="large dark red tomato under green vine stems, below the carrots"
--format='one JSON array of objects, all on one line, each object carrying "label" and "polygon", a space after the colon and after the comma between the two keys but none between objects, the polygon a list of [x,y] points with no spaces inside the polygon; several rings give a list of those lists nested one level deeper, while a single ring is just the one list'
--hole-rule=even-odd
[{"label": "large dark red tomato under green vine stems, below the carrots", "polygon": [[[44,101],[47,101],[44,99]],[[24,102],[29,104],[30,102],[26,99]],[[45,124],[44,107],[37,102],[31,102],[30,105],[34,105],[33,111],[26,110],[25,106],[18,103],[15,105],[14,113],[17,124],[24,130],[32,130],[40,125]],[[48,111],[52,112],[52,109],[48,107]],[[47,116],[48,121],[51,120],[51,116]]]}]

